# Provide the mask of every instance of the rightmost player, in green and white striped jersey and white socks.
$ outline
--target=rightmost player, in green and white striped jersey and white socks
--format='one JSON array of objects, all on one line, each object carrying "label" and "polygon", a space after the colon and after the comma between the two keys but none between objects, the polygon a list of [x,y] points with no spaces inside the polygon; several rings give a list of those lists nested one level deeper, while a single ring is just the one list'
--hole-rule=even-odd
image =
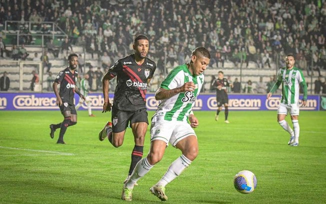
[{"label": "rightmost player, in green and white striped jersey and white socks", "polygon": [[[288,54],[285,57],[286,67],[279,69],[277,74],[277,80],[271,87],[270,92],[267,94],[267,99],[270,98],[280,84],[282,84],[282,96],[280,99],[280,105],[277,110],[278,123],[290,134],[290,139],[287,144],[291,146],[297,146],[299,144],[299,132],[300,127],[298,123],[299,115],[299,88],[300,85],[303,89],[302,105],[306,105],[307,100],[307,85],[302,74],[302,71],[294,66],[294,56]],[[293,123],[293,130],[285,121],[287,112],[291,115]]]}]

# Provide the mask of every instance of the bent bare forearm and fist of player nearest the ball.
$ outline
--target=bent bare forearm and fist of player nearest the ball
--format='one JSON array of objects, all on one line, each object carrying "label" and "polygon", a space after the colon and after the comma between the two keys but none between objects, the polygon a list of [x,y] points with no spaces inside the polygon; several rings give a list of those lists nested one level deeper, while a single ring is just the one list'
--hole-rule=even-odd
[{"label": "bent bare forearm and fist of player nearest the ball", "polygon": [[178,93],[185,92],[185,91],[193,91],[194,89],[195,89],[195,85],[192,81],[188,81],[184,83],[181,87],[176,87],[173,89],[165,89],[159,87],[155,92],[155,99],[156,100],[168,99]]}]

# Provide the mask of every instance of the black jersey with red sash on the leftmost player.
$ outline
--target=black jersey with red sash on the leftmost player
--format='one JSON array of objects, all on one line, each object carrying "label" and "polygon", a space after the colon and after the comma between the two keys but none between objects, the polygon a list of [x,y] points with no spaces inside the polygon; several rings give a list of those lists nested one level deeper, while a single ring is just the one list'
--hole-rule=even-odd
[{"label": "black jersey with red sash on the leftmost player", "polygon": [[54,82],[60,83],[59,95],[62,102],[73,103],[74,87],[76,86],[78,72],[71,73],[69,68],[65,68],[57,74]]}]

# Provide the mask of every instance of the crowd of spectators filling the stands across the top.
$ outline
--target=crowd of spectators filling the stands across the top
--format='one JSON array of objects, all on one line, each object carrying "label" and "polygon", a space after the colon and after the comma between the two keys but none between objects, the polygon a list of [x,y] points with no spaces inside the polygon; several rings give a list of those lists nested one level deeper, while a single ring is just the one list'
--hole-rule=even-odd
[{"label": "crowd of spectators filling the stands across the top", "polygon": [[202,45],[218,67],[225,60],[281,66],[292,53],[299,68],[320,75],[326,69],[325,18],[324,0],[0,0],[1,24],[56,22],[69,36],[61,51],[84,46],[103,68],[131,53],[133,36],[144,33],[158,72]]}]

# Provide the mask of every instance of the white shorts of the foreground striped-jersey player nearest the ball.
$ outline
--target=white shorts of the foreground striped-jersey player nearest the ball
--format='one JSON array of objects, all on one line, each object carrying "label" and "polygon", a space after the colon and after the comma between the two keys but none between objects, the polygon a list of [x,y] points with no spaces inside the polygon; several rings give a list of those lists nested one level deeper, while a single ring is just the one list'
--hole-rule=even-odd
[{"label": "white shorts of the foreground striped-jersey player nearest the ball", "polygon": [[197,137],[187,122],[156,120],[150,125],[150,141],[159,139],[165,141],[166,146],[170,143],[175,147],[178,141],[190,135]]}]

